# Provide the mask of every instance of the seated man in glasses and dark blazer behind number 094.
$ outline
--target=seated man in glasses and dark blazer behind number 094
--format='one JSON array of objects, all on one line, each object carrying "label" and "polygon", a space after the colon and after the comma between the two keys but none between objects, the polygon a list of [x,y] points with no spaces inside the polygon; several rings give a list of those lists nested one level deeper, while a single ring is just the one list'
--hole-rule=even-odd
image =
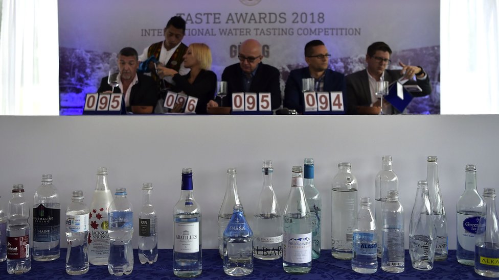
[{"label": "seated man in glasses and dark blazer behind number 094", "polygon": [[345,101],[345,75],[328,69],[331,55],[324,43],[313,40],[305,45],[305,61],[308,67],[292,70],[284,88],[283,107],[303,114],[304,99],[302,79],[314,78],[315,91],[341,91]]}]

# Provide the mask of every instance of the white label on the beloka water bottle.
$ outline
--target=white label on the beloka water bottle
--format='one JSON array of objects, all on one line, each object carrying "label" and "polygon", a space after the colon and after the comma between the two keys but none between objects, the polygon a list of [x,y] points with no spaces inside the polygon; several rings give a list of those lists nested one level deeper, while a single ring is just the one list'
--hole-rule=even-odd
[{"label": "white label on the beloka water bottle", "polygon": [[283,260],[288,263],[306,264],[312,261],[312,233],[283,235]]}]

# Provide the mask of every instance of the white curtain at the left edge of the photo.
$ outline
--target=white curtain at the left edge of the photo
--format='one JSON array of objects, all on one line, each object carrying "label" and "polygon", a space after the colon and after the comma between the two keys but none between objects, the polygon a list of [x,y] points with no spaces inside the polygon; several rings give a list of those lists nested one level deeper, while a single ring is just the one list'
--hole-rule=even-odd
[{"label": "white curtain at the left edge of the photo", "polygon": [[57,0],[3,0],[0,115],[59,114]]}]

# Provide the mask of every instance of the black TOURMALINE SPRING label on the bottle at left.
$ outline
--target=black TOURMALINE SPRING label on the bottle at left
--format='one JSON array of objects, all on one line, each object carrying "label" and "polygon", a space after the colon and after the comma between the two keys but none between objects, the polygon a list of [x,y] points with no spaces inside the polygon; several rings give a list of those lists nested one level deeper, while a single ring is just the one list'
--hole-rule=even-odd
[{"label": "black TOURMALINE SPRING label on the bottle at left", "polygon": [[33,208],[33,241],[59,241],[61,239],[60,223],[60,209],[46,208],[43,204]]}]

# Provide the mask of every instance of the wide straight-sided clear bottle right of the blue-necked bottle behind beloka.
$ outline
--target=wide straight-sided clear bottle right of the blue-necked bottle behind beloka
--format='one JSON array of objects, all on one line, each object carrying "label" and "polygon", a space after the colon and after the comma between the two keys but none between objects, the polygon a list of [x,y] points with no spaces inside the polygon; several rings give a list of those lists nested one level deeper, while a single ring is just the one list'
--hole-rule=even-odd
[{"label": "wide straight-sided clear bottle right of the blue-necked bottle behind beloka", "polygon": [[357,221],[357,179],[349,162],[338,163],[331,188],[331,255],[352,259],[352,234]]}]

